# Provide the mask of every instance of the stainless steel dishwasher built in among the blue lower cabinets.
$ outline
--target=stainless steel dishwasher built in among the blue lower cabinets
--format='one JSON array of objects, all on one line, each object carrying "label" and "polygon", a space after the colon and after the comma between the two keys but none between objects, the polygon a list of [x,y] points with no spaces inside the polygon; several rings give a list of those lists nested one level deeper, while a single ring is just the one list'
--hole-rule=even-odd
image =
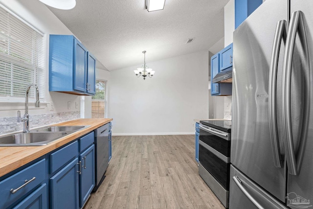
[{"label": "stainless steel dishwasher built in among the blue lower cabinets", "polygon": [[94,130],[95,144],[95,186],[96,191],[103,182],[108,166],[109,166],[109,131],[111,130],[111,122]]}]

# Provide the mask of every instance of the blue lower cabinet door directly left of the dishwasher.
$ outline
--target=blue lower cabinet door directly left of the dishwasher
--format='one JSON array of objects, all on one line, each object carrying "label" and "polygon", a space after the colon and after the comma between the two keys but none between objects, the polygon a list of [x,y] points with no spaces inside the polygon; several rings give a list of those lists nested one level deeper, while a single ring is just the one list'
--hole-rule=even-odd
[{"label": "blue lower cabinet door directly left of the dishwasher", "polygon": [[79,178],[79,206],[82,208],[94,187],[94,145],[79,155],[82,172]]}]

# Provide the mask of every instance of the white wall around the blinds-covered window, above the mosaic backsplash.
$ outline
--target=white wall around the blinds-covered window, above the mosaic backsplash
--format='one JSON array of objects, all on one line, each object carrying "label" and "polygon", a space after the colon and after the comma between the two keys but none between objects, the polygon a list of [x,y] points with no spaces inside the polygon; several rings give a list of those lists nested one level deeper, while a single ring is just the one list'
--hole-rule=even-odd
[{"label": "white wall around the blinds-covered window, above the mosaic backsplash", "polygon": [[[45,33],[45,89],[40,89],[40,92],[45,92],[45,101],[41,100],[41,108],[34,109],[30,106],[29,115],[49,114],[79,111],[80,105],[75,109],[75,102],[80,104],[80,96],[49,92],[48,87],[48,52],[49,52],[49,34],[67,34],[71,35],[71,31],[39,0],[0,0],[0,2],[6,5],[10,10],[18,14],[26,22],[32,24],[37,29]],[[23,99],[22,99],[23,100]],[[54,103],[54,110],[50,111],[47,107],[50,102]],[[67,102],[71,102],[71,109],[67,109]],[[48,104],[47,104],[48,103]],[[21,110],[23,114],[24,103],[10,103],[8,99],[2,99],[0,101],[0,117],[16,116],[17,110]]]}]

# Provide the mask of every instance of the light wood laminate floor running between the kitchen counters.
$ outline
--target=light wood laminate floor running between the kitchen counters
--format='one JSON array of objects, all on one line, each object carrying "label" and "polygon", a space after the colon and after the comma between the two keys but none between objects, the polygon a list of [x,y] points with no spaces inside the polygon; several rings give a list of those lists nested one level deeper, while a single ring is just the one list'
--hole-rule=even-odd
[{"label": "light wood laminate floor running between the kitchen counters", "polygon": [[198,174],[194,137],[113,136],[106,178],[85,209],[224,209]]}]

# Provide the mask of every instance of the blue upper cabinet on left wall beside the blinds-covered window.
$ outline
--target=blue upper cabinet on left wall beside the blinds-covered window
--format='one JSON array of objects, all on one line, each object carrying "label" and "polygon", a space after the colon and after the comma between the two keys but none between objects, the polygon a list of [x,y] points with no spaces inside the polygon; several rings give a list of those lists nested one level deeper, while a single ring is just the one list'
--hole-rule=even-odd
[{"label": "blue upper cabinet on left wall beside the blinds-covered window", "polygon": [[95,58],[72,35],[50,35],[49,91],[95,94]]}]

